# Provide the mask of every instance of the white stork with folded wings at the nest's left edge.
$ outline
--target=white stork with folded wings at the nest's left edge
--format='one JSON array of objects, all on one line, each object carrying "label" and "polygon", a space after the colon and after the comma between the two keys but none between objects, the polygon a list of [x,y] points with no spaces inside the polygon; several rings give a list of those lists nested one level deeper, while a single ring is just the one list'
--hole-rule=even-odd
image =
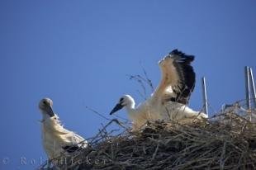
[{"label": "white stork with folded wings at the nest's left edge", "polygon": [[58,158],[61,153],[69,155],[78,149],[88,146],[88,142],[73,131],[66,130],[59,121],[59,117],[53,111],[53,102],[50,98],[44,98],[39,103],[43,116],[42,139],[45,152],[50,160]]}]

